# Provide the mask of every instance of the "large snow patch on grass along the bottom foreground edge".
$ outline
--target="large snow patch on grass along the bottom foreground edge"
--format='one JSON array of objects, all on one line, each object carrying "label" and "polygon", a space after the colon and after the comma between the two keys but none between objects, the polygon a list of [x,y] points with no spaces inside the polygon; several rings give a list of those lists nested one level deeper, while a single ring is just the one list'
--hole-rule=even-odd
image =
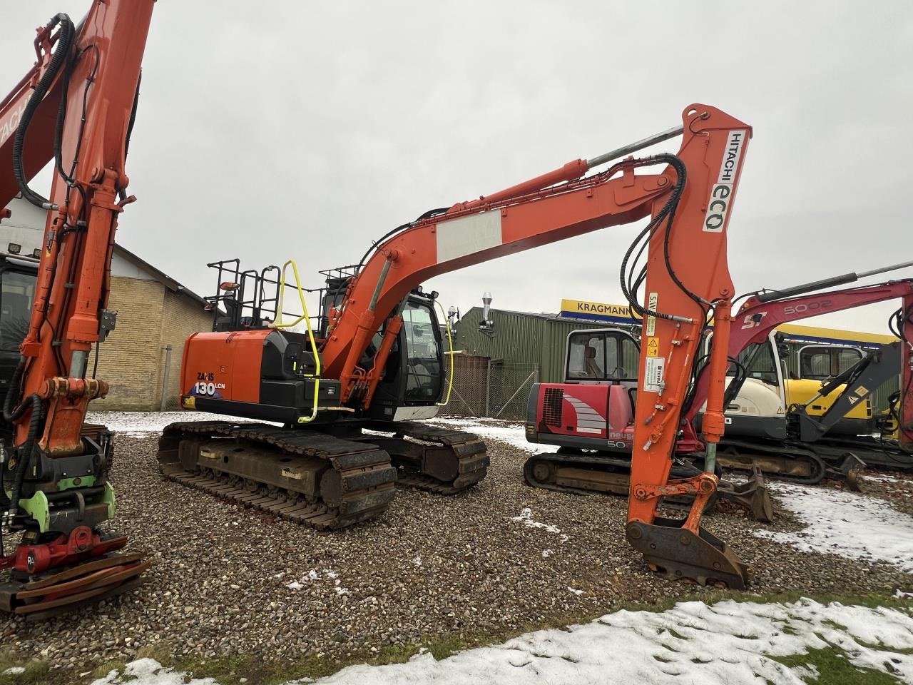
[{"label": "large snow patch on grass along the bottom foreground edge", "polygon": [[[619,645],[624,646],[619,648]],[[884,607],[785,604],[731,600],[708,606],[682,602],[664,612],[618,611],[592,623],[539,630],[492,647],[437,661],[420,651],[406,663],[362,664],[320,679],[321,685],[627,685],[632,682],[701,685],[798,685],[813,678],[808,665],[789,668],[771,657],[833,646],[861,669],[913,682],[913,617]],[[142,666],[138,666],[142,664]],[[137,685],[178,685],[184,674],[152,659],[127,666]],[[116,671],[92,685],[113,685]],[[177,677],[176,677],[177,676]],[[306,680],[292,680],[286,685]],[[213,685],[190,680],[190,685]]]}]

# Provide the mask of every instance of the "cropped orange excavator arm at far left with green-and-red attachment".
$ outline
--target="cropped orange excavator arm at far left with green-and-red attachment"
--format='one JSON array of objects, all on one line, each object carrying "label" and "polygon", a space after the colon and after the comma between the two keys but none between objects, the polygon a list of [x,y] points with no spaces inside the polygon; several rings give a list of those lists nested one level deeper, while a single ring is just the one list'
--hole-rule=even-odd
[{"label": "cropped orange excavator arm at far left with green-and-red attachment", "polygon": [[[105,529],[115,509],[111,437],[85,417],[108,392],[89,373],[89,353],[114,327],[111,251],[134,199],[124,162],[152,5],[92,3],[79,25],[53,16],[37,29],[34,67],[0,100],[0,207],[21,194],[47,210],[0,441],[0,569],[9,572],[0,609],[16,615],[49,617],[122,593],[149,566],[140,553],[116,553],[127,538]],[[50,162],[46,198],[28,181]]]}]

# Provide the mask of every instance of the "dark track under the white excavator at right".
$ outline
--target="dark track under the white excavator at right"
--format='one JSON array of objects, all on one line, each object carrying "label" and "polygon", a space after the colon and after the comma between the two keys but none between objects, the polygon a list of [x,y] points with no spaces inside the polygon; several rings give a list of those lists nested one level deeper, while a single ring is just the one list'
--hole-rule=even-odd
[{"label": "dark track under the white excavator at right", "polygon": [[827,465],[811,449],[790,443],[765,445],[723,437],[717,448],[717,461],[724,469],[752,470],[760,467],[765,475],[802,485],[820,483]]}]

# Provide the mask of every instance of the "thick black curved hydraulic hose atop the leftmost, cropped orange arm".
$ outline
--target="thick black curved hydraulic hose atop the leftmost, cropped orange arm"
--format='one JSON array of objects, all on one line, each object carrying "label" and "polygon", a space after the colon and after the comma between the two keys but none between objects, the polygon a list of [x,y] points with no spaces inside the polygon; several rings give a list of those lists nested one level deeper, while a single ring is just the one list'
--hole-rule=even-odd
[{"label": "thick black curved hydraulic hose atop the leftmost, cropped orange arm", "polygon": [[[57,209],[57,205],[54,205],[46,197],[38,195],[34,190],[28,187],[28,179],[26,179],[26,170],[22,161],[22,149],[26,142],[26,132],[28,131],[28,126],[32,121],[32,117],[35,115],[35,112],[38,109],[38,105],[41,104],[41,100],[44,100],[47,95],[47,91],[50,90],[51,84],[54,82],[54,79],[57,78],[60,68],[68,60],[72,47],[76,39],[76,29],[73,26],[73,22],[70,21],[68,15],[59,14],[51,17],[51,20],[47,23],[47,29],[53,30],[55,26],[60,26],[59,36],[58,36],[58,45],[54,50],[54,54],[51,55],[51,61],[47,65],[44,75],[41,79],[38,80],[35,90],[32,92],[32,97],[28,99],[26,104],[26,109],[22,112],[22,117],[19,120],[19,125],[16,127],[16,137],[13,140],[13,175],[16,178],[16,184],[19,186],[19,191],[22,193],[22,196],[26,198],[30,203],[41,207],[42,209]],[[55,131],[55,142],[54,150],[55,156],[59,157],[60,149],[60,137],[63,130],[63,121],[62,113],[66,108],[67,93],[64,92],[61,95],[60,100],[60,109],[58,110],[58,122],[57,128]]]}]

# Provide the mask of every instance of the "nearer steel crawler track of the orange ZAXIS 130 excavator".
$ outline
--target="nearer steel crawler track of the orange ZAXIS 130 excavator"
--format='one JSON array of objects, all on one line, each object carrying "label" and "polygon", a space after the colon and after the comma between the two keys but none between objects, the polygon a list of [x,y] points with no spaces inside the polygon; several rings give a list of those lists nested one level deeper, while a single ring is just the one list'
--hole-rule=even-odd
[{"label": "nearer steel crawler track of the orange ZAXIS 130 excavator", "polygon": [[382,448],[313,430],[177,423],[164,429],[158,460],[168,479],[320,531],[373,519],[396,494]]}]

